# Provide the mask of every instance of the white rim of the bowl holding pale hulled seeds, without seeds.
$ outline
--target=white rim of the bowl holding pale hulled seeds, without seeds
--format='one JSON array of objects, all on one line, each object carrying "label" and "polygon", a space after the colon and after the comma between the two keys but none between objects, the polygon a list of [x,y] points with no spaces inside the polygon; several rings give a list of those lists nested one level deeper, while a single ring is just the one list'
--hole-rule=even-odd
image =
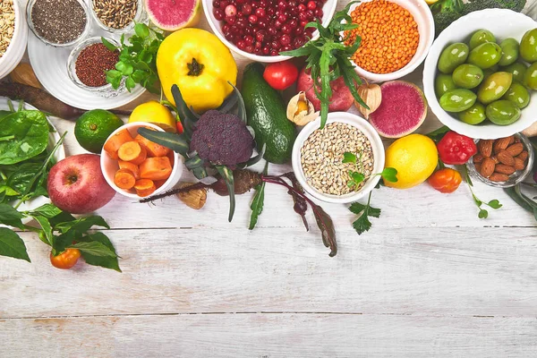
[{"label": "white rim of the bowl holding pale hulled seeds, without seeds", "polygon": [[[385,161],[384,145],[382,144],[382,140],[380,139],[379,133],[375,131],[372,125],[369,124],[369,122],[367,122],[362,117],[359,117],[358,115],[346,113],[346,112],[329,113],[327,124],[331,124],[335,122],[350,124],[356,127],[370,140],[371,149],[373,150],[372,173],[381,173],[382,170],[384,169],[384,161]],[[318,200],[345,204],[348,202],[353,202],[353,201],[362,199],[365,195],[369,194],[369,192],[371,192],[375,188],[377,183],[379,183],[380,175],[372,175],[371,178],[369,178],[365,182],[365,184],[362,186],[362,189],[359,192],[350,192],[345,195],[331,195],[331,194],[326,194],[324,192],[320,192],[319,190],[317,190],[316,188],[314,188],[307,182],[306,175],[304,175],[303,166],[301,164],[302,156],[300,153],[300,149],[302,149],[304,141],[306,141],[308,137],[310,137],[311,133],[315,132],[319,128],[320,128],[320,117],[317,118],[315,121],[310,122],[309,124],[306,124],[303,127],[303,130],[296,137],[296,141],[294,141],[292,161],[293,161],[293,171],[294,171],[294,175],[296,176],[296,179],[303,186],[306,192],[308,192],[312,197]]]}]

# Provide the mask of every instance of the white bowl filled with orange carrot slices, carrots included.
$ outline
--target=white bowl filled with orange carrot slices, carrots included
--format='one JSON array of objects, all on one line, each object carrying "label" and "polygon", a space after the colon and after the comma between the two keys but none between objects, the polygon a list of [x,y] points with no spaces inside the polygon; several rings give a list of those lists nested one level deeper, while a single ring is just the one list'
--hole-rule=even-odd
[{"label": "white bowl filled with orange carrot slices, carrots included", "polygon": [[179,182],[182,158],[166,147],[138,134],[146,127],[164,132],[155,124],[124,124],[108,137],[101,152],[101,170],[116,192],[129,198],[144,198],[165,192]]}]

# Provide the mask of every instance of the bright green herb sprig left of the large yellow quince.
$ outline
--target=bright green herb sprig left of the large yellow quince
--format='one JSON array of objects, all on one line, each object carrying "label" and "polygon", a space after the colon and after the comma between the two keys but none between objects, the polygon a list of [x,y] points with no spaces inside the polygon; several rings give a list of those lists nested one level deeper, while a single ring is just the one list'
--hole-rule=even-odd
[{"label": "bright green herb sprig left of the large yellow quince", "polygon": [[121,46],[116,47],[106,38],[101,38],[103,44],[110,50],[119,50],[119,62],[115,70],[107,72],[107,82],[117,90],[124,81],[125,88],[130,92],[137,83],[151,93],[160,93],[160,82],[157,72],[158,47],[164,40],[164,34],[150,29],[143,23],[134,26],[135,34],[125,43],[121,37]]}]

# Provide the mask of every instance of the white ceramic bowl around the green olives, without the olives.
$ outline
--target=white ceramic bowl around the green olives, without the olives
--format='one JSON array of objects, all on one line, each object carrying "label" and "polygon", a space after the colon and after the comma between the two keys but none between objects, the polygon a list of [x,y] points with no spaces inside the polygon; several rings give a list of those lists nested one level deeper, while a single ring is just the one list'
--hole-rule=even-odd
[{"label": "white ceramic bowl around the green olives, without the olives", "polygon": [[432,112],[439,118],[442,124],[447,125],[451,130],[464,134],[474,139],[493,140],[508,137],[516,132],[522,132],[537,121],[537,92],[531,91],[531,100],[528,107],[522,110],[522,116],[514,124],[496,125],[487,124],[472,125],[465,124],[444,111],[439,104],[439,99],[434,91],[434,79],[438,74],[437,64],[439,56],[444,48],[455,42],[468,42],[475,30],[490,30],[497,40],[504,38],[516,38],[518,41],[527,30],[537,28],[537,22],[522,13],[515,13],[510,10],[487,9],[475,13],[469,13],[459,20],[453,22],[442,31],[440,36],[430,47],[429,56],[425,60],[423,69],[423,91]]}]

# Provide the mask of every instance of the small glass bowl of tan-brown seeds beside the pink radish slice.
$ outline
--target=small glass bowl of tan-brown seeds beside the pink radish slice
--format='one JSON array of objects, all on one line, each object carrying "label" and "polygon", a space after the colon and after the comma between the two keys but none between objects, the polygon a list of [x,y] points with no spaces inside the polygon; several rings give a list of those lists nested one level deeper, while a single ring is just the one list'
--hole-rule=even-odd
[{"label": "small glass bowl of tan-brown seeds beside the pink radish slice", "polygon": [[136,23],[148,21],[143,0],[90,0],[90,9],[98,27],[113,34],[132,32]]}]

